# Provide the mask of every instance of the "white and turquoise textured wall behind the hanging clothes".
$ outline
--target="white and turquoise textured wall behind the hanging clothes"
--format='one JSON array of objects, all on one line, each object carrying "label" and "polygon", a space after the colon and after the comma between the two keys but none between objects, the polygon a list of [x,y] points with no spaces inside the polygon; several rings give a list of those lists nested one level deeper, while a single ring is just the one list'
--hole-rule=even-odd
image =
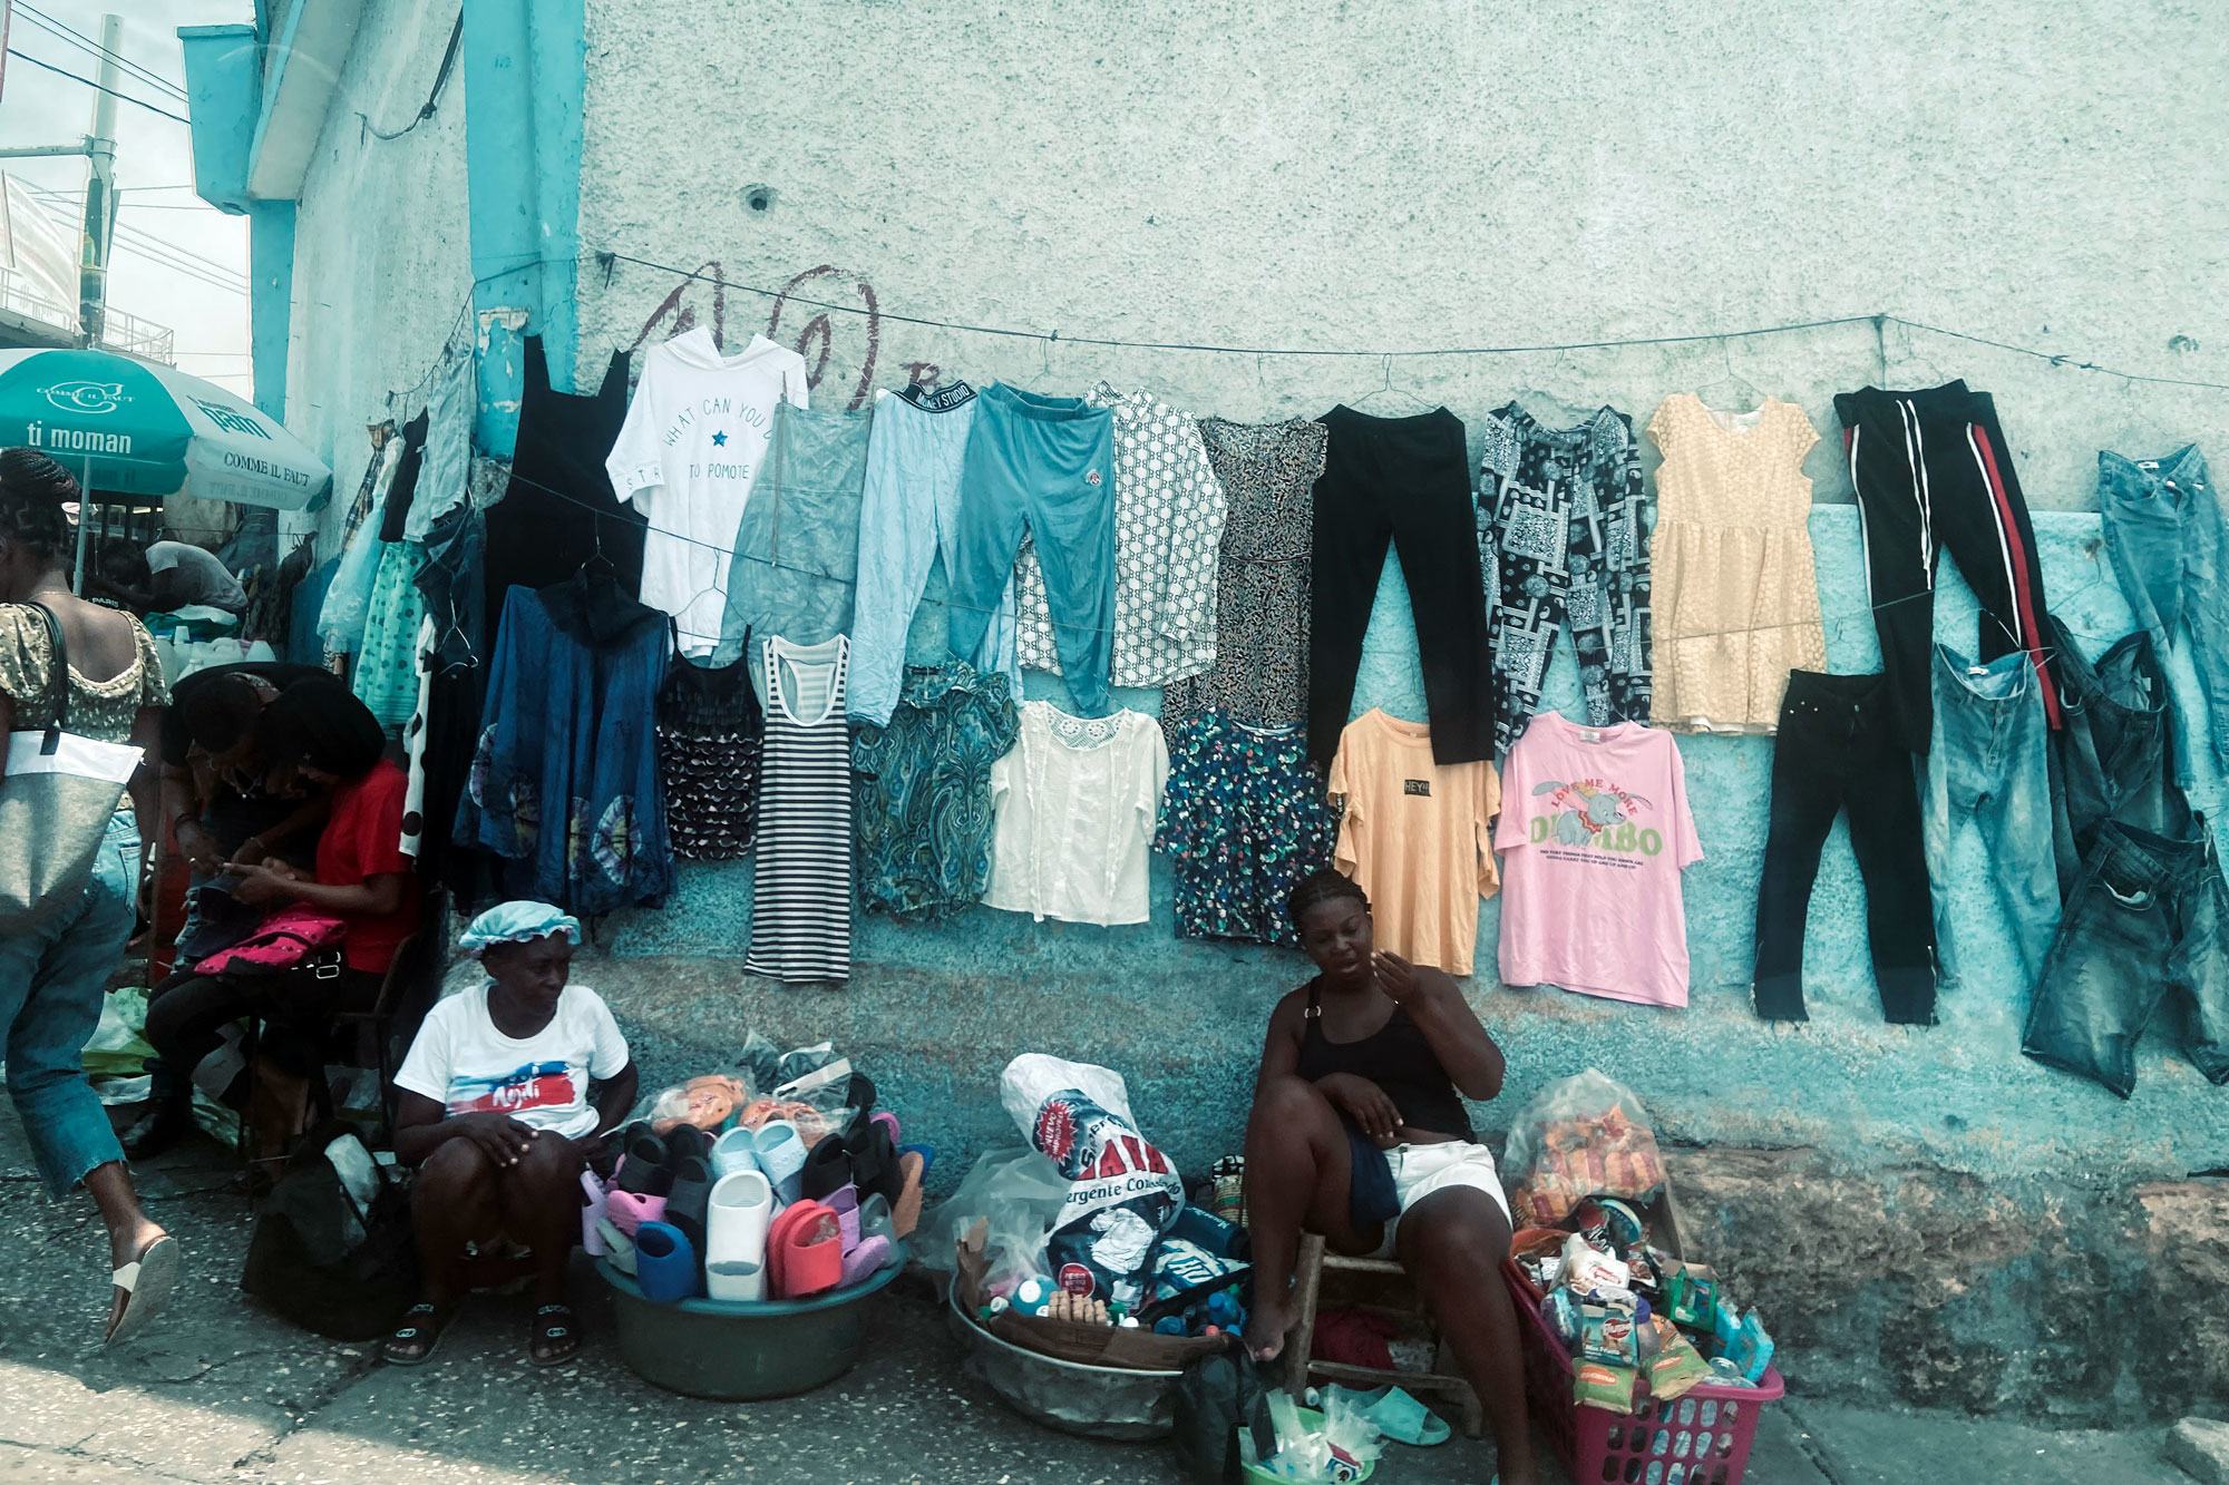
[{"label": "white and turquoise textured wall behind the hanging clothes", "polygon": [[[1108,377],[1239,419],[1315,415],[1391,381],[1398,395],[1366,410],[1476,419],[1522,397],[1551,419],[1609,401],[1645,424],[1665,395],[1739,375],[1826,435],[1808,464],[1821,504],[1850,499],[1832,392],[1966,377],[1997,395],[2031,502],[2071,513],[2037,524],[2053,600],[2093,647],[2126,629],[2095,517],[2073,515],[2093,511],[2095,453],[2198,439],[2229,457],[2218,390],[1984,343],[2229,381],[2229,236],[2204,230],[2229,207],[2209,7],[769,0],[742,29],[704,20],[588,0],[582,370],[702,321],[729,346],[758,330],[798,346],[816,406],[938,368],[1041,390]],[[1077,343],[1529,346],[1875,312],[1982,339],[1868,321],[1391,361]],[[1832,662],[1863,669],[1855,522],[1821,511],[1814,531]],[[1970,635],[1964,604],[1946,584],[1944,633]],[[1569,700],[1569,682],[1565,667],[1551,696]],[[1373,702],[1422,716],[1391,571],[1357,689]],[[1480,977],[1476,1003],[1511,1052],[1482,1124],[1505,1128],[1554,1077],[1609,1068],[1670,1142],[1721,1153],[1681,1164],[1716,1211],[1714,1253],[1763,1284],[1863,1266],[1819,1291],[1819,1313],[1788,1316],[1797,1353],[1832,1358],[1814,1376],[1975,1407],[2051,1389],[2109,1416],[2135,1387],[2140,1318],[2176,1313],[2131,1278],[2142,1242],[2167,1240],[2140,1242],[2115,1213],[2135,1206],[2133,1182],[2222,1162],[2229,1097],[2155,1046],[2131,1104],[2028,1064],[2002,954],[1944,1026],[1881,1026],[1839,832],[1812,910],[1814,1019],[1759,1023],[1745,983],[1770,745],[1683,747],[1710,852],[1687,881],[1694,1006]],[[820,994],[740,974],[747,865],[687,872],[666,912],[611,930],[617,957],[593,974],[651,1075],[702,1070],[744,1028],[845,1041],[909,1133],[945,1146],[941,1182],[1012,1137],[994,1077],[1019,1050],[1117,1066],[1146,1128],[1199,1162],[1233,1146],[1262,1019],[1304,968],[1172,941],[1166,892],[1164,876],[1157,921],[1128,930],[987,910],[869,921],[858,977]],[[1982,894],[1959,901],[1986,921]],[[1491,934],[1489,908],[1482,963]],[[1973,1262],[1917,1258],[1977,1233]],[[1884,1262],[1906,1242],[1908,1262]],[[2040,1302],[2069,1275],[2082,1307]],[[2106,1293],[2126,1295],[2129,1324],[2084,1331]]]}]

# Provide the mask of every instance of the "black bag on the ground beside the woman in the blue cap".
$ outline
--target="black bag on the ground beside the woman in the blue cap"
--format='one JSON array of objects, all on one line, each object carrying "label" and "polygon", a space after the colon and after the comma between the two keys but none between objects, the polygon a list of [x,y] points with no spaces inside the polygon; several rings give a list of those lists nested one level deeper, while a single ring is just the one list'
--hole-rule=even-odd
[{"label": "black bag on the ground beside the woman in the blue cap", "polygon": [[310,1130],[256,1209],[241,1289],[334,1340],[374,1340],[417,1298],[410,1193],[341,1122]]}]

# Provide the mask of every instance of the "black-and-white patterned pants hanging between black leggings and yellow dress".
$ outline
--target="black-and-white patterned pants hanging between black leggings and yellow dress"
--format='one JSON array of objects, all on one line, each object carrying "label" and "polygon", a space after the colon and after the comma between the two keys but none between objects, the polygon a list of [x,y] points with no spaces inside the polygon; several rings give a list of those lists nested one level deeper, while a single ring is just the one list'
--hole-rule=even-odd
[{"label": "black-and-white patterned pants hanging between black leggings and yellow dress", "polygon": [[1505,758],[1540,707],[1556,633],[1571,620],[1587,725],[1649,720],[1649,495],[1632,419],[1603,408],[1542,428],[1509,404],[1485,421],[1478,555],[1493,633]]}]

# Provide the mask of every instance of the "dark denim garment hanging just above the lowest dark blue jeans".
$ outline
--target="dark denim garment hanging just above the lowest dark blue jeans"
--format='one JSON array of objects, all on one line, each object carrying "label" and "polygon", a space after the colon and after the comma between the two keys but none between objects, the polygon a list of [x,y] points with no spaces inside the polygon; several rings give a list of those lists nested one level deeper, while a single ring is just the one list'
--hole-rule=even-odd
[{"label": "dark denim garment hanging just above the lowest dark blue jeans", "polygon": [[2060,901],[2082,876],[2082,856],[2102,821],[2120,821],[2180,841],[2191,807],[2167,771],[2169,689],[2151,635],[2138,629],[2095,664],[2073,633],[2044,618],[2066,725],[2051,734],[2051,850]]}]

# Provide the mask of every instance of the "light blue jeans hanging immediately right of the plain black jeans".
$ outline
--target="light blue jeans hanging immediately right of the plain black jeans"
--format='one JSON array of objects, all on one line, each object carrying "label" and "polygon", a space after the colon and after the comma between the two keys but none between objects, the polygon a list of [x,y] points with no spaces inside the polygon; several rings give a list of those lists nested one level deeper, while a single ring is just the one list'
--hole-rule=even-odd
[{"label": "light blue jeans hanging immediately right of the plain black jeans", "polygon": [[[2015,649],[1973,664],[1948,644],[1935,647],[1935,722],[1928,745],[1926,852],[1935,890],[1935,948],[1941,983],[1962,981],[1953,890],[1986,881],[2019,959],[2026,990],[2051,952],[2060,923],[2060,879],[2051,854],[2051,763],[2046,760],[2044,693],[2028,651]],[[1962,876],[1955,852],[1979,832],[1986,865]],[[1966,932],[1977,925],[1968,921]],[[1982,932],[1973,941],[1995,934]]]}]

